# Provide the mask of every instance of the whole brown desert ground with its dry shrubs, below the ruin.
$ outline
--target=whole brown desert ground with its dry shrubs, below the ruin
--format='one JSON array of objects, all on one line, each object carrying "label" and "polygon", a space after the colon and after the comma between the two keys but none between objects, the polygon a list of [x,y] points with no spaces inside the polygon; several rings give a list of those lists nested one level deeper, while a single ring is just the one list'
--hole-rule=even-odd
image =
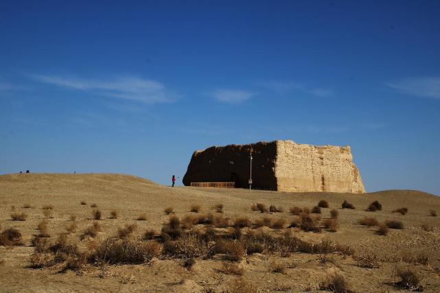
[{"label": "whole brown desert ground with its dry shrubs, below the ruin", "polygon": [[[329,205],[321,213],[293,214],[320,200]],[[356,209],[342,209],[344,200]],[[375,200],[382,209],[366,211]],[[400,208],[407,213],[393,212]],[[440,198],[421,191],[249,192],[120,174],[2,175],[0,291],[440,292],[436,213]],[[377,222],[360,224],[365,217]],[[307,220],[316,231],[304,231]],[[403,228],[386,231],[391,220]],[[21,239],[9,239],[10,228]]]}]

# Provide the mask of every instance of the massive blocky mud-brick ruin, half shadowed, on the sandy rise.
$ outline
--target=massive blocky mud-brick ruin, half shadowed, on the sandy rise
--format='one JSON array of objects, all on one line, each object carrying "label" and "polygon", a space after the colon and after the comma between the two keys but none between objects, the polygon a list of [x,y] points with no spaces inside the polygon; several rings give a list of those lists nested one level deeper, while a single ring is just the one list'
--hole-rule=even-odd
[{"label": "massive blocky mud-brick ruin, half shadowed, on the sandy rise", "polygon": [[278,191],[365,192],[349,146],[271,141],[196,150],[183,184],[234,181],[248,187],[252,149],[253,187]]}]

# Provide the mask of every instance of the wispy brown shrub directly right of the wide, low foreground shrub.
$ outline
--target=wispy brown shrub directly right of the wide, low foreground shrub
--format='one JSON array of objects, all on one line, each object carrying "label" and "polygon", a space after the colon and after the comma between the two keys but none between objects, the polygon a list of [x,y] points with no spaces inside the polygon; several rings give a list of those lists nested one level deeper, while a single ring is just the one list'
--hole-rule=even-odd
[{"label": "wispy brown shrub directly right of the wide, low foreground shrub", "polygon": [[213,243],[208,242],[198,233],[187,233],[177,240],[163,244],[163,255],[176,258],[208,258],[213,253]]}]

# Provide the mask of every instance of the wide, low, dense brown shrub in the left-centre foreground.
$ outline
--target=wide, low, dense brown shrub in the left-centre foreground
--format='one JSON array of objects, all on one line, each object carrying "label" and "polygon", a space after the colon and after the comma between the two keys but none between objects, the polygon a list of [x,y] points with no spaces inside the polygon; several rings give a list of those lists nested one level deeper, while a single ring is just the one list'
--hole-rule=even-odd
[{"label": "wide, low, dense brown shrub in the left-centre foreground", "polygon": [[126,239],[106,239],[92,253],[91,261],[117,263],[148,263],[161,252],[161,245],[154,241],[142,242]]}]

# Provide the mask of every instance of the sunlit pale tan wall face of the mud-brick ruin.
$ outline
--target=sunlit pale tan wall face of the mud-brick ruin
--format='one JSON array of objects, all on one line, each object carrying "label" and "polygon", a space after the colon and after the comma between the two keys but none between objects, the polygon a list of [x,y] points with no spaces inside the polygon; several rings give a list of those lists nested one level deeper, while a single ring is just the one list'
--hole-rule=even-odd
[{"label": "sunlit pale tan wall face of the mud-brick ruin", "polygon": [[365,192],[349,146],[277,141],[275,176],[280,191]]}]

